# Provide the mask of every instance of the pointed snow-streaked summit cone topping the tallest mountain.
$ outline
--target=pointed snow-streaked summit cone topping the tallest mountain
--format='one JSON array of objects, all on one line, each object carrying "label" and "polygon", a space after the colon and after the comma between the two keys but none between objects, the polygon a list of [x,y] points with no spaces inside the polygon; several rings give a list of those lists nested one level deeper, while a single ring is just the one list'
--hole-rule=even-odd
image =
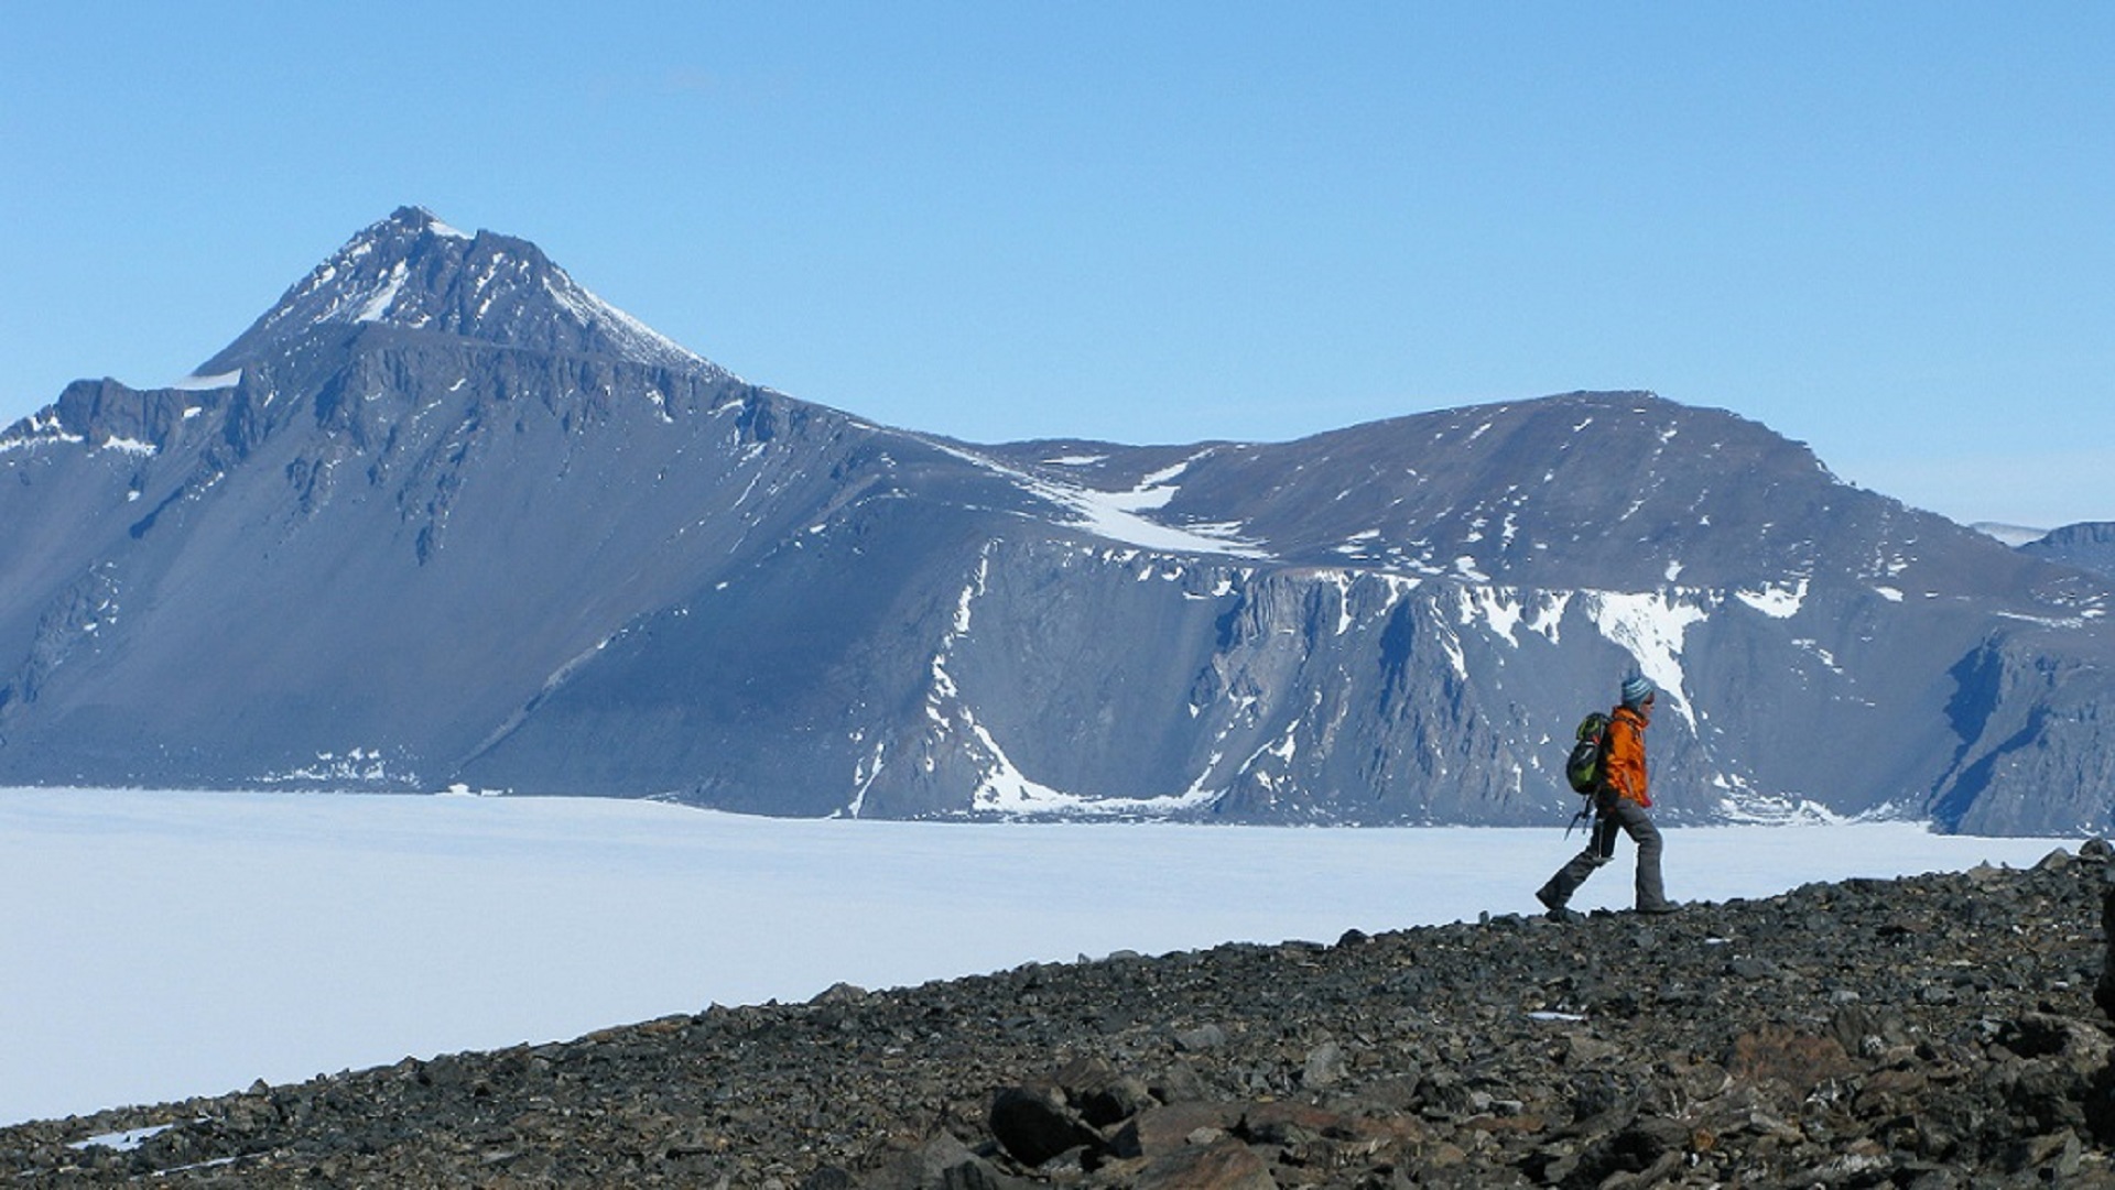
[{"label": "pointed snow-streaked summit cone topping the tallest mountain", "polygon": [[470,235],[406,205],[362,228],[195,374],[220,378],[319,326],[355,323],[721,372],[590,294],[537,245],[489,230]]}]

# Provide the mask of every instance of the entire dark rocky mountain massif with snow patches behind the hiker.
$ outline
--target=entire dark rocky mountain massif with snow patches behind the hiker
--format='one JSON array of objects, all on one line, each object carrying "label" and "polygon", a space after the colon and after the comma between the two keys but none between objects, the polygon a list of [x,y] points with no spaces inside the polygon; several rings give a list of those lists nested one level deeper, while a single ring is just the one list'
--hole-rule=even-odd
[{"label": "entire dark rocky mountain massif with snow patches behind the hiker", "polygon": [[1734,414],[979,446],[421,209],[192,380],[0,431],[0,784],[1552,822],[1639,670],[1673,820],[2115,810],[2111,581]]}]

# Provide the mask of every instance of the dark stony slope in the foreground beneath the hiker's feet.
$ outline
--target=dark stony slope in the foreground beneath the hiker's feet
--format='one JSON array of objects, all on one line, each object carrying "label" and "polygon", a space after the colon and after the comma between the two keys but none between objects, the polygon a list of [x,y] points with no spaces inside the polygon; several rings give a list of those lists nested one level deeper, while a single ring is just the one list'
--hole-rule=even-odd
[{"label": "dark stony slope in the foreground beneath the hiker's feet", "polygon": [[0,1129],[15,1186],[2115,1186],[2111,850],[1024,966]]}]

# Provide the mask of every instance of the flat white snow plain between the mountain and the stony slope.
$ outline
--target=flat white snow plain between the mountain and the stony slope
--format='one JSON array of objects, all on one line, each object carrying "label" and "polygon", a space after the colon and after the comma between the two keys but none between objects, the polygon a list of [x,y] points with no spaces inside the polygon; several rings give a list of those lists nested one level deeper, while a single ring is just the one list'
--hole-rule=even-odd
[{"label": "flat white snow plain between the mountain and the stony slope", "polygon": [[[1669,831],[1677,898],[2077,839]],[[0,791],[0,1122],[1227,941],[1527,913],[1561,826],[764,820],[603,799]],[[1631,852],[1580,907],[1622,907]]]}]

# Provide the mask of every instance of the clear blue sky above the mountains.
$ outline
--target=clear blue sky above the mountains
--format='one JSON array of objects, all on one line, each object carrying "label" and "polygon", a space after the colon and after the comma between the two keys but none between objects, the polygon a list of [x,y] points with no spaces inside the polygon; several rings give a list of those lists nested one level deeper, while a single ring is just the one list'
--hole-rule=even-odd
[{"label": "clear blue sky above the mountains", "polygon": [[417,203],[960,438],[1637,387],[2115,520],[2115,4],[539,8],[11,6],[0,425]]}]

